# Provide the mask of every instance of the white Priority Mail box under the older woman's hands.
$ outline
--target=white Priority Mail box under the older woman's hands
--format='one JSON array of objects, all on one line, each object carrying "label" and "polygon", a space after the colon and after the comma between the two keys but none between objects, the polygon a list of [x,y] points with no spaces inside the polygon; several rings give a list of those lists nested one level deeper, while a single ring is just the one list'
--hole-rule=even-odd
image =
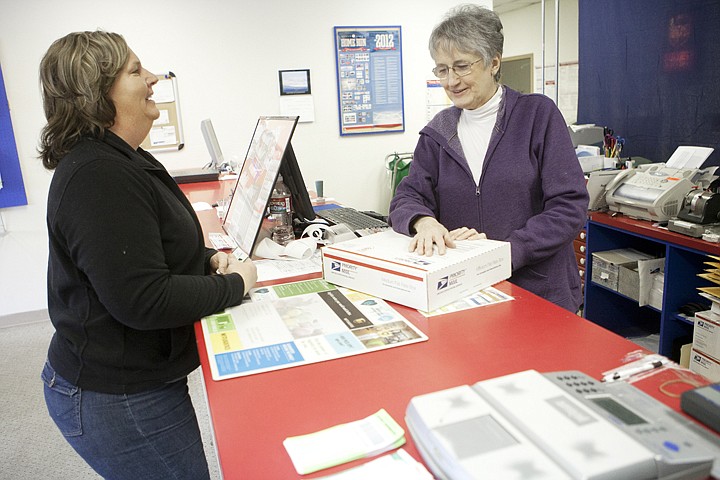
[{"label": "white Priority Mail box under the older woman's hands", "polygon": [[510,244],[464,240],[445,255],[408,252],[411,238],[386,230],[322,248],[328,282],[430,311],[510,277]]}]

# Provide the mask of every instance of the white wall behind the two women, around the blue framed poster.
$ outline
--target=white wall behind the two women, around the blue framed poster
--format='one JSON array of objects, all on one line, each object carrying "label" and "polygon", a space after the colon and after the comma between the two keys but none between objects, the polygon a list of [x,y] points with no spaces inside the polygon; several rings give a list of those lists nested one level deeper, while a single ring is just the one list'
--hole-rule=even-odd
[{"label": "white wall behind the two women, around the blue framed poster", "polygon": [[[257,117],[280,113],[277,71],[309,68],[315,121],[299,124],[293,137],[306,183],[323,179],[326,196],[386,212],[389,187],[383,160],[394,151],[412,151],[426,123],[425,80],[433,67],[427,39],[456,3],[0,0],[0,65],[28,196],[27,206],[0,210],[9,232],[0,236],[0,316],[46,308],[45,203],[51,173],[36,158],[44,124],[38,65],[55,39],[98,28],[122,33],[144,66],[177,75],[185,148],[156,155],[175,168],[207,161],[199,125],[208,117],[225,157],[242,160]],[[492,1],[475,3],[490,6]],[[522,26],[513,26],[514,16]],[[526,36],[526,21],[519,12],[503,16],[511,50],[515,37]],[[346,25],[402,26],[404,133],[339,135],[333,27]]]}]

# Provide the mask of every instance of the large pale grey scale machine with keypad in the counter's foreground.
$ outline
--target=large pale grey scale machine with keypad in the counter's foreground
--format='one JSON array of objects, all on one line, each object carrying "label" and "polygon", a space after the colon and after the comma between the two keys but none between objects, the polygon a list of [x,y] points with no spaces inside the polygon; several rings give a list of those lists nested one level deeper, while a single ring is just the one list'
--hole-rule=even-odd
[{"label": "large pale grey scale machine with keypad in the counter's foreground", "polygon": [[420,395],[406,422],[440,479],[703,479],[720,456],[716,437],[636,387],[577,371]]}]

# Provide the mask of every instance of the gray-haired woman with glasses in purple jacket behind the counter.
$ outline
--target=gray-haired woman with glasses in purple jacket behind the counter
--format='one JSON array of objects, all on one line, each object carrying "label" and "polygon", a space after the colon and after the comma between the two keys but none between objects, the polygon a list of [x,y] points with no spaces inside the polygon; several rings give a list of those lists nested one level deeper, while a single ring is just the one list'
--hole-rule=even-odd
[{"label": "gray-haired woman with glasses in purple jacket behind the counter", "polygon": [[576,312],[582,303],[573,239],[588,193],[567,124],[548,97],[500,85],[498,16],[449,12],[430,36],[433,73],[453,106],[420,132],[390,223],[410,250],[445,253],[455,240],[510,242],[510,281]]}]

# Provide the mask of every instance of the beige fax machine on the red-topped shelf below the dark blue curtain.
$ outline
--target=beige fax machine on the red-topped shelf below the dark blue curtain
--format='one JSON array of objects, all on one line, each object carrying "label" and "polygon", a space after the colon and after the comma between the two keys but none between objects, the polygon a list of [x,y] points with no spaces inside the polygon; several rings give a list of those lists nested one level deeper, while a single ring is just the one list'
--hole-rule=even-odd
[{"label": "beige fax machine on the red-topped shelf below the dark blue curtain", "polygon": [[623,170],[607,184],[605,201],[611,211],[666,222],[677,216],[688,192],[710,184],[714,172],[715,167],[674,168],[664,163]]}]

